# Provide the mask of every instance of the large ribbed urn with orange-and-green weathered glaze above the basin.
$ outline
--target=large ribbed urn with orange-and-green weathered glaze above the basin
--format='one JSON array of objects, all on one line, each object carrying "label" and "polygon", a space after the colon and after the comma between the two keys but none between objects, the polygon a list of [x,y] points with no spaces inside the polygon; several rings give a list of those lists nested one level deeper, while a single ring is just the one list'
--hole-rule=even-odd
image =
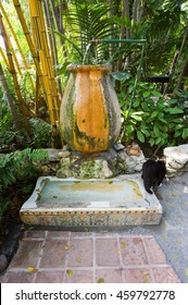
[{"label": "large ribbed urn with orange-and-green weathered glaze above the basin", "polygon": [[63,139],[86,154],[108,150],[121,132],[121,110],[110,80],[111,65],[70,64],[60,110]]}]

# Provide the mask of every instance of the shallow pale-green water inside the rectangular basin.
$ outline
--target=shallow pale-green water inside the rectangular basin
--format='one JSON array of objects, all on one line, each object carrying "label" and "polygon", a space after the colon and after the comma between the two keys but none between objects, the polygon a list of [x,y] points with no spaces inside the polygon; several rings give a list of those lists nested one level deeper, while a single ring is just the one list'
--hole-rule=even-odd
[{"label": "shallow pale-green water inside the rectangular basin", "polygon": [[101,203],[126,205],[140,200],[142,194],[135,181],[50,181],[42,186],[37,206],[86,207]]}]

